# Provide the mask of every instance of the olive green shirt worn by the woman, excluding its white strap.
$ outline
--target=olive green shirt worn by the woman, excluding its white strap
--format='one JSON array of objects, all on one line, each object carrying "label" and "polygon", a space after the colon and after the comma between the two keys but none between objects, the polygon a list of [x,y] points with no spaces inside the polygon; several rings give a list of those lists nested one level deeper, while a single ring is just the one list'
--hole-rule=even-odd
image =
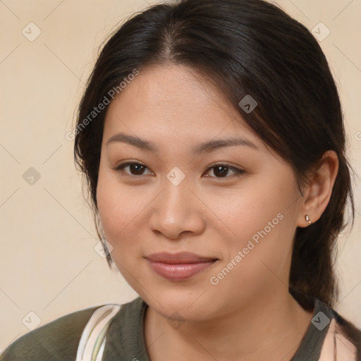
[{"label": "olive green shirt worn by the woman, excluding its white strap", "polygon": [[[82,330],[98,307],[101,306],[66,314],[30,331],[9,345],[0,355],[0,361],[74,361]],[[147,307],[140,297],[122,305],[109,326],[102,360],[150,361],[143,329]],[[321,318],[317,317],[319,312],[324,316],[321,314]],[[322,322],[324,317],[331,320],[334,314],[334,311],[321,301],[315,300],[314,319],[291,361],[319,359],[329,327],[324,326],[324,329],[320,330]]]}]

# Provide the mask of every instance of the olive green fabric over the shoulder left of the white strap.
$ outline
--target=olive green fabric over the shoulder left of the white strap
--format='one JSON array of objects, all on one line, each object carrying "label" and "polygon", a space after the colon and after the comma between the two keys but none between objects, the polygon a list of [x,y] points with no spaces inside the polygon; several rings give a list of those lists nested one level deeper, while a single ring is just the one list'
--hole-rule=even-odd
[{"label": "olive green fabric over the shoulder left of the white strap", "polygon": [[102,305],[66,314],[28,332],[4,350],[0,361],[75,360],[82,331],[99,307]]}]

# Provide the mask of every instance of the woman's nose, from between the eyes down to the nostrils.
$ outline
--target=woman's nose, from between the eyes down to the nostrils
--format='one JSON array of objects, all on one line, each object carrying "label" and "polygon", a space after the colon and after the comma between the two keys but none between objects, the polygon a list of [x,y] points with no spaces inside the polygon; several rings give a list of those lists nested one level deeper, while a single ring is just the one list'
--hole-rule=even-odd
[{"label": "woman's nose, from between the eyes down to the nostrils", "polygon": [[163,190],[149,208],[149,228],[171,240],[202,233],[207,212],[188,182],[174,185],[165,179],[162,185]]}]

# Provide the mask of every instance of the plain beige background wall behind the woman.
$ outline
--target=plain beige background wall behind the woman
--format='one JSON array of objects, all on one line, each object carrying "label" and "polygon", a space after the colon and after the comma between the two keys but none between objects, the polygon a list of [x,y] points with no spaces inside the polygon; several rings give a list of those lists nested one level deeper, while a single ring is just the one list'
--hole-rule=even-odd
[{"label": "plain beige background wall behind the woman", "polygon": [[[360,174],[361,1],[276,2],[310,30],[322,22],[331,31],[320,43],[341,91],[350,159]],[[36,326],[37,317],[42,325],[136,297],[94,251],[92,216],[65,135],[99,45],[118,22],[152,3],[0,1],[0,350]],[[33,42],[22,34],[30,22],[41,30]],[[23,179],[30,167],[40,175],[33,185]],[[361,327],[360,179],[355,183],[357,213],[340,242],[336,310]]]}]

